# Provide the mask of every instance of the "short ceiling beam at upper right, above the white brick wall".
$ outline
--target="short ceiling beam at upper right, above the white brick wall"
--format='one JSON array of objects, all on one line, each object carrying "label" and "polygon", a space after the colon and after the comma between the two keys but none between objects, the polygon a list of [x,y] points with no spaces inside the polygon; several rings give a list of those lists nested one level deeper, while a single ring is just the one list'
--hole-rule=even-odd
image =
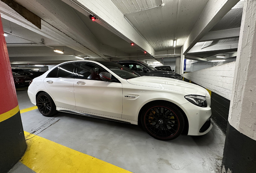
[{"label": "short ceiling beam at upper right, above the white brick wall", "polygon": [[231,28],[226,30],[219,30],[208,32],[199,42],[213,41],[213,40],[224,40],[228,38],[239,38],[240,28]]}]

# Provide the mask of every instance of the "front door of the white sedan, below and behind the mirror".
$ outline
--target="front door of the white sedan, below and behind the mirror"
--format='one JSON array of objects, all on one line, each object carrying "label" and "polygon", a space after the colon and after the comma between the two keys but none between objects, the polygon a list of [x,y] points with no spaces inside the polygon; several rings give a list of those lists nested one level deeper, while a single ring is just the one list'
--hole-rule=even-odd
[{"label": "front door of the white sedan, below and behind the mirror", "polygon": [[[110,117],[122,116],[122,83],[103,81],[100,72],[106,72],[92,62],[80,62],[74,80],[76,109]],[[112,76],[113,77],[113,76]]]}]

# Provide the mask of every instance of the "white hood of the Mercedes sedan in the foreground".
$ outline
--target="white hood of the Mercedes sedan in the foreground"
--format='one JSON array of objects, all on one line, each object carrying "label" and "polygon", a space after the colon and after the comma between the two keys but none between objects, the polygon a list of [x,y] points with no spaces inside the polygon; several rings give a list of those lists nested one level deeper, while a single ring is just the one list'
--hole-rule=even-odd
[{"label": "white hood of the Mercedes sedan in the foreground", "polygon": [[185,95],[201,95],[206,96],[206,89],[196,84],[165,77],[140,76],[128,79],[127,82],[134,85],[145,87],[154,87],[160,89],[168,89],[172,91],[182,92]]}]

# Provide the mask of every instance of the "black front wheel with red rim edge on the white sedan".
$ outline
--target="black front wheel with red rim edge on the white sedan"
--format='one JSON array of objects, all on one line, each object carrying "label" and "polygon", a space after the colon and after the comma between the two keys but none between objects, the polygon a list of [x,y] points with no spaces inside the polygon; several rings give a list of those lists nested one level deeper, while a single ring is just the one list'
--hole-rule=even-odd
[{"label": "black front wheel with red rim edge on the white sedan", "polygon": [[184,117],[172,103],[156,101],[143,108],[140,115],[143,129],[155,139],[177,138],[184,129]]}]

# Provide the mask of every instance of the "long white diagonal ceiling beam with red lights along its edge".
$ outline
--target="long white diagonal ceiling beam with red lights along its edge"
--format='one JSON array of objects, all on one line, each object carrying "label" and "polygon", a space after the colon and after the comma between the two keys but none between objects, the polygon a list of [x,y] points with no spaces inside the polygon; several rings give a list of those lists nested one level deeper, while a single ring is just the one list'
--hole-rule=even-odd
[{"label": "long white diagonal ceiling beam with red lights along its edge", "polygon": [[128,20],[124,18],[124,14],[111,0],[62,0],[72,6],[79,12],[89,16],[94,14],[97,17],[95,22],[101,24],[111,32],[120,36],[127,42],[134,42],[142,51],[146,51],[150,55],[155,54],[155,50],[145,40],[142,35],[134,28]]}]

